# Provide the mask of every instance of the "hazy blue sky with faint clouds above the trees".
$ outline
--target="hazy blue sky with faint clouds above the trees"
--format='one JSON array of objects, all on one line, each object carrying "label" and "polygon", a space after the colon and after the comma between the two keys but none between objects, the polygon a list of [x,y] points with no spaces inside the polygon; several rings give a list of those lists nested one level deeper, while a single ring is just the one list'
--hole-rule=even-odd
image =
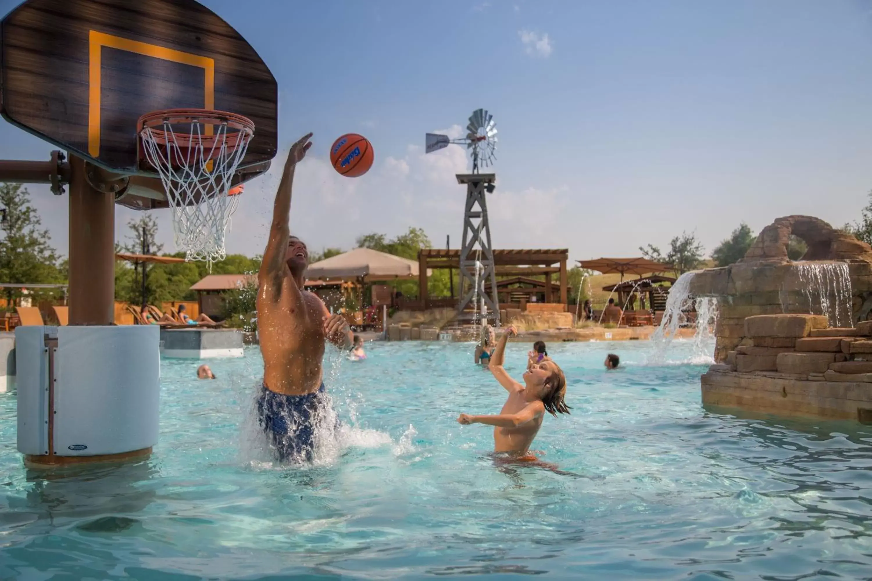
[{"label": "hazy blue sky with faint clouds above the trees", "polygon": [[[634,256],[686,230],[711,252],[743,220],[841,226],[872,189],[872,2],[203,3],[276,76],[283,148],[315,132],[291,217],[313,249],[408,226],[457,247],[453,174],[468,159],[456,146],[425,156],[424,134],[459,132],[478,107],[500,130],[496,247]],[[325,161],[344,132],[374,145],[363,177]],[[0,122],[3,159],[50,149]],[[273,173],[246,190],[229,252],[262,252],[275,186]],[[65,253],[66,200],[30,190]],[[169,214],[156,214],[172,250]],[[135,217],[119,209],[119,238]]]}]

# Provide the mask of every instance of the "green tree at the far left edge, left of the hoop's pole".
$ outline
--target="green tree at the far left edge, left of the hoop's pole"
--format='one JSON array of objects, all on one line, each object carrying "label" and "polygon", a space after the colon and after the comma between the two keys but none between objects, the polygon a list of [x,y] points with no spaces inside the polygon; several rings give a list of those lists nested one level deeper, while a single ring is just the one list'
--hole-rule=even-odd
[{"label": "green tree at the far left edge, left of the hoop's pole", "polygon": [[[51,236],[40,228],[42,220],[31,206],[27,188],[0,184],[0,207],[6,209],[6,220],[0,225],[0,280],[19,284],[65,282]],[[19,295],[17,288],[5,289],[8,305]]]}]

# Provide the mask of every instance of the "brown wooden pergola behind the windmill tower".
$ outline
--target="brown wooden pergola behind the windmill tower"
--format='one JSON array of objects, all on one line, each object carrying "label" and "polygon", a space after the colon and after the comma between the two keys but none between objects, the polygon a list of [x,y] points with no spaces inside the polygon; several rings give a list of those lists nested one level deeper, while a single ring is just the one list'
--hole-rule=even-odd
[{"label": "brown wooden pergola behind the windmill tower", "polygon": [[[569,284],[567,280],[567,261],[569,250],[560,249],[523,249],[494,250],[494,268],[500,277],[530,277],[544,276],[545,301],[558,301],[565,305],[569,299]],[[418,297],[422,308],[445,306],[444,299],[430,299],[427,293],[427,270],[437,268],[460,269],[460,250],[439,248],[424,248],[418,253]],[[557,275],[556,285],[552,276]],[[499,287],[499,282],[497,283]],[[555,297],[555,286],[559,295]],[[453,297],[452,297],[453,301]],[[436,303],[439,303],[438,305]]]}]

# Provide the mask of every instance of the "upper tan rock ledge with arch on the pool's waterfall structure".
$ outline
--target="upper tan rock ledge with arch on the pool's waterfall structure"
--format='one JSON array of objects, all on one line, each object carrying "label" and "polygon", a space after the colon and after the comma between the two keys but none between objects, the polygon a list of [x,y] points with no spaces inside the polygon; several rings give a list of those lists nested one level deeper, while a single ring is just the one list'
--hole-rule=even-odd
[{"label": "upper tan rock ledge with arch on the pool's waterfall structure", "polygon": [[[800,261],[787,259],[791,234],[807,244]],[[728,352],[749,344],[746,317],[809,313],[808,283],[802,279],[802,265],[807,264],[847,265],[851,288],[845,308],[850,314],[845,314],[842,324],[869,317],[872,247],[811,216],[779,218],[760,232],[745,258],[729,267],[706,269],[691,280],[691,294],[718,298],[715,361],[724,361]]]}]

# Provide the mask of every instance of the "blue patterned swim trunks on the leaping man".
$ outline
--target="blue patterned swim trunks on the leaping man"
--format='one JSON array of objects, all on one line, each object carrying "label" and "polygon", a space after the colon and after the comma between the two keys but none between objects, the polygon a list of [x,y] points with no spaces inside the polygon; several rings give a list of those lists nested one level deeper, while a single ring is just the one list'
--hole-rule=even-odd
[{"label": "blue patterned swim trunks on the leaping man", "polygon": [[270,391],[262,384],[257,398],[257,421],[269,434],[279,461],[288,459],[312,460],[315,452],[315,423],[318,398],[324,394],[324,383],[318,390],[306,395],[284,395]]}]

